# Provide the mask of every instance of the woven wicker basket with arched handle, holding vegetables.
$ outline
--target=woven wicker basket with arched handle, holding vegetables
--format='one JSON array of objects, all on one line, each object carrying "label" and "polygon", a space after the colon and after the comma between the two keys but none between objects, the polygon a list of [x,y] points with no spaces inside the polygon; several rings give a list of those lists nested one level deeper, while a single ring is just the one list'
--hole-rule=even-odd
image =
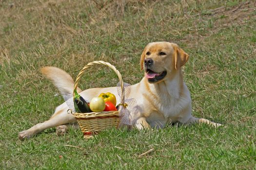
[{"label": "woven wicker basket with arched handle, holding vegetables", "polygon": [[[123,90],[122,76],[114,66],[104,61],[90,62],[86,66],[84,66],[80,70],[77,76],[77,79],[74,85],[74,91],[77,90],[81,75],[84,73],[84,71],[87,68],[93,65],[105,65],[112,68],[115,71],[115,73],[118,75],[118,79],[120,81],[120,86],[121,86],[121,103],[124,103],[124,93],[123,93],[124,90]],[[75,96],[75,93],[73,93],[73,97],[74,96]],[[118,111],[73,113],[73,115],[78,120],[79,127],[83,132],[85,139],[91,138],[94,134],[97,134],[101,130],[111,128],[111,127],[118,127],[120,122]]]}]

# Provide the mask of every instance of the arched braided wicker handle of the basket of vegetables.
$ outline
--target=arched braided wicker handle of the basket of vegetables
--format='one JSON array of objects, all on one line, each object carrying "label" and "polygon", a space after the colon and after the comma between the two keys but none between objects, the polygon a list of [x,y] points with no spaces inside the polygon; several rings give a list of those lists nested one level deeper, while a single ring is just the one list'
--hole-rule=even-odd
[{"label": "arched braided wicker handle of the basket of vegetables", "polygon": [[113,65],[111,65],[110,63],[107,63],[107,62],[104,62],[104,61],[93,61],[93,62],[90,62],[90,63],[88,63],[86,66],[84,66],[84,67],[80,70],[80,72],[79,72],[79,74],[78,74],[78,76],[77,76],[77,78],[76,78],[75,85],[74,85],[73,97],[75,96],[75,91],[77,91],[78,83],[79,83],[79,81],[80,81],[80,77],[82,76],[82,74],[84,73],[84,71],[85,71],[87,68],[89,68],[89,67],[91,67],[91,66],[93,66],[93,65],[97,65],[97,64],[99,64],[99,65],[105,65],[105,66],[110,67],[110,68],[113,69],[113,70],[115,71],[115,73],[118,75],[118,79],[119,79],[120,85],[121,85],[121,104],[124,104],[124,88],[123,88],[122,76],[121,76],[121,74],[119,73],[119,71],[117,70],[117,68],[115,68],[115,67],[114,67]]}]

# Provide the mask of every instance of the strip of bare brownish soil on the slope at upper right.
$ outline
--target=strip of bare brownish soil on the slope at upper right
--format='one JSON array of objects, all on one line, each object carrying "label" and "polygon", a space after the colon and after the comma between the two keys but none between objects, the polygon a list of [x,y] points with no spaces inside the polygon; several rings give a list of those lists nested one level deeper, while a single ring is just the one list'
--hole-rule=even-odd
[{"label": "strip of bare brownish soil on the slope at upper right", "polygon": [[[241,2],[234,7],[221,6],[207,11],[206,14],[197,14],[194,26],[189,28],[190,34],[186,35],[181,41],[195,46],[206,37],[216,34],[220,30],[230,26],[239,26],[246,24],[249,20],[256,19],[256,1]],[[212,23],[210,20],[212,19]],[[201,23],[208,22],[208,26],[198,26]],[[211,26],[209,26],[211,24]],[[202,24],[201,24],[202,25]],[[189,42],[193,41],[193,44]]]}]

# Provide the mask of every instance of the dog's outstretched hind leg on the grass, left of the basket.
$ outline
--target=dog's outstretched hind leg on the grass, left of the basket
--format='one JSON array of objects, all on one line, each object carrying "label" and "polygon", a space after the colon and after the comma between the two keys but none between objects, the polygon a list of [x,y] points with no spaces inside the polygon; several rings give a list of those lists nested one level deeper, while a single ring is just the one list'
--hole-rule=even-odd
[{"label": "dog's outstretched hind leg on the grass, left of the basket", "polygon": [[38,123],[30,129],[20,132],[20,140],[35,136],[37,133],[48,128],[57,127],[59,125],[64,125],[68,123],[76,123],[77,120],[72,114],[67,113],[67,109],[67,106],[60,105],[59,107],[57,107],[55,114],[49,120],[43,123]]}]

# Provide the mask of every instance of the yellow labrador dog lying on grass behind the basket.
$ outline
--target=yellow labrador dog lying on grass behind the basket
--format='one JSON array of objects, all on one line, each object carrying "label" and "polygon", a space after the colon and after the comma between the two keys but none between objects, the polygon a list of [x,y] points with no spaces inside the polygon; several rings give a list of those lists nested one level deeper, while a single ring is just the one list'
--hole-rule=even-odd
[{"label": "yellow labrador dog lying on grass behind the basket", "polygon": [[[181,71],[188,58],[189,55],[174,43],[153,42],[145,47],[140,59],[141,70],[144,69],[145,76],[138,84],[131,86],[129,96],[135,98],[138,104],[138,112],[132,115],[133,127],[163,128],[169,122],[207,123],[215,127],[221,125],[191,115],[190,92]],[[65,71],[55,67],[44,67],[41,71],[59,88],[61,94],[73,92],[74,81]],[[78,92],[89,101],[101,92],[111,92],[119,101],[117,87],[91,88],[84,91],[78,88]],[[67,114],[67,110],[67,104],[62,103],[49,120],[20,132],[19,138],[30,138],[51,127],[57,127],[57,134],[65,133],[70,125],[78,127],[76,119],[72,114]]]}]

